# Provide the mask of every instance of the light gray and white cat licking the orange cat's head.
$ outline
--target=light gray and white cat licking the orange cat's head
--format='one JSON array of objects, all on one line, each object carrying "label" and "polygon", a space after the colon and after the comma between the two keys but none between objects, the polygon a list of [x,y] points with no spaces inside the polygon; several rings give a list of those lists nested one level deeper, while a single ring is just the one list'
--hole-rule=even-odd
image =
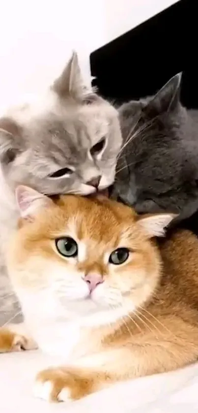
[{"label": "light gray and white cat licking the orange cat's head", "polygon": [[17,308],[4,268],[18,218],[16,186],[46,194],[105,189],[113,183],[120,147],[117,111],[84,85],[75,53],[45,95],[0,119],[0,325]]}]

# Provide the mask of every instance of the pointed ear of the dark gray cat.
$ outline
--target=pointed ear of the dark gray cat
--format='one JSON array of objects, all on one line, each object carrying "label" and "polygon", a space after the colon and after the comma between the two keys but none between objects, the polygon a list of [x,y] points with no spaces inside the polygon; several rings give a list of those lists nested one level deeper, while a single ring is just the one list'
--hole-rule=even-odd
[{"label": "pointed ear of the dark gray cat", "polygon": [[145,107],[147,114],[153,116],[175,109],[180,101],[181,77],[182,72],[177,73],[156,93]]}]

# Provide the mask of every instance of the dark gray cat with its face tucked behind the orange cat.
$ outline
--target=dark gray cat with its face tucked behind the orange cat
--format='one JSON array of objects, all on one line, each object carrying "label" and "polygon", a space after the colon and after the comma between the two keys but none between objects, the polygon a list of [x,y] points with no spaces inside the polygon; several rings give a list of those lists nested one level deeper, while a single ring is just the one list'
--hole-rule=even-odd
[{"label": "dark gray cat with its face tucked behind the orange cat", "polygon": [[198,210],[198,111],[180,102],[181,74],[155,95],[119,108],[124,145],[114,195],[137,212]]}]

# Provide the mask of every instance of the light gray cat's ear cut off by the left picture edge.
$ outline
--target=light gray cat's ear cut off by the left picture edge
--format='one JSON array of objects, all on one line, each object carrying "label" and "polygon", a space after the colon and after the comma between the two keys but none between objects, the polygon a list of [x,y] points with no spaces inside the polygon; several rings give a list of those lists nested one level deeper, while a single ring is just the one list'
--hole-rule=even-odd
[{"label": "light gray cat's ear cut off by the left picture edge", "polygon": [[16,138],[21,136],[21,128],[9,118],[0,119],[0,161],[12,162],[18,152]]}]

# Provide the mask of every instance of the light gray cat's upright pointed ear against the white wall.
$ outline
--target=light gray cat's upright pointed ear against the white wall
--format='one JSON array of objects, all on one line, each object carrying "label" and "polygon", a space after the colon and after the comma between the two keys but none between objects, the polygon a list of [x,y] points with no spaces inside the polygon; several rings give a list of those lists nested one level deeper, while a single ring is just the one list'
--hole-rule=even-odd
[{"label": "light gray cat's upright pointed ear against the white wall", "polygon": [[73,52],[71,59],[61,75],[55,80],[52,89],[59,97],[71,96],[77,100],[84,100],[88,95],[94,95],[83,81],[78,56]]}]

